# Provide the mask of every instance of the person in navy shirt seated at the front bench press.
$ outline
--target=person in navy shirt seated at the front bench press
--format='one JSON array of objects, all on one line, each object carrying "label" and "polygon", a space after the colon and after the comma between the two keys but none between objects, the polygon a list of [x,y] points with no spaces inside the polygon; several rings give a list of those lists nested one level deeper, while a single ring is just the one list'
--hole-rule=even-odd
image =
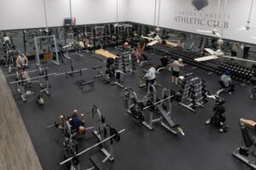
[{"label": "person in navy shirt seated at the front bench press", "polygon": [[[67,120],[74,131],[76,131],[81,135],[84,135],[85,134],[85,127],[84,127],[85,118],[84,118],[84,114],[80,114],[80,116],[81,116],[81,119],[79,118],[78,111],[74,110],[72,116],[67,116]],[[64,122],[65,122],[65,117],[61,115],[59,118],[59,124],[55,123],[55,127],[63,128]]]}]

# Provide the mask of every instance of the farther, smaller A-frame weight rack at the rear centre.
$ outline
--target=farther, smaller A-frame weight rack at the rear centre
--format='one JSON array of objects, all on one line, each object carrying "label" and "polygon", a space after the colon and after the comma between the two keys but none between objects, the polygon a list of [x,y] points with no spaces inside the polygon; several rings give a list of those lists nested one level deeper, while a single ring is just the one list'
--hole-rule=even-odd
[{"label": "farther, smaller A-frame weight rack at the rear centre", "polygon": [[115,69],[126,74],[128,72],[134,72],[135,60],[131,58],[130,52],[124,52],[115,59]]}]

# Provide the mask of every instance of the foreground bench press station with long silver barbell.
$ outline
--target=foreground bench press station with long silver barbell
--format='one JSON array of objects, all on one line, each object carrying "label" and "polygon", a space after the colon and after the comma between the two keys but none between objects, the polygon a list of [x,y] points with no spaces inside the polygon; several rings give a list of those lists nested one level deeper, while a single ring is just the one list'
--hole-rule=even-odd
[{"label": "foreground bench press station with long silver barbell", "polygon": [[[120,140],[120,133],[125,132],[125,129],[120,130],[119,132],[106,124],[105,118],[102,116],[100,112],[100,108],[97,108],[96,105],[93,105],[92,110],[90,111],[91,116],[96,119],[95,126],[93,127],[86,127],[86,130],[92,130],[91,132],[96,136],[97,143],[93,144],[86,150],[79,152],[79,143],[75,141],[75,137],[78,135],[76,131],[72,129],[68,122],[68,117],[63,116],[64,124],[63,127],[60,127],[59,124],[54,123],[46,128],[50,127],[59,127],[63,129],[64,134],[64,142],[63,142],[63,161],[61,161],[60,165],[66,165],[69,170],[81,170],[79,165],[79,156],[87,152],[88,150],[94,149],[96,146],[99,146],[99,149],[104,154],[104,159],[100,160],[99,157],[91,156],[90,161],[93,163],[93,167],[86,168],[87,170],[92,170],[95,168],[104,167],[104,163],[106,161],[114,161],[113,157],[113,143],[119,142]],[[109,144],[107,143],[109,141]]]}]

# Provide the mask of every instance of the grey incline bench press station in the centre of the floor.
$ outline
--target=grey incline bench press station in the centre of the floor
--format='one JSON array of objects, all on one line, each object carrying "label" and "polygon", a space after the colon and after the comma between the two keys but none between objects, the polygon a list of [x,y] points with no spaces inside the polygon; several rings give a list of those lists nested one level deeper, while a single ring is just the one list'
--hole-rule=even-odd
[{"label": "grey incline bench press station in the centre of the floor", "polygon": [[[142,100],[137,99],[137,94],[131,88],[128,88],[125,93],[125,100],[127,101],[127,113],[143,123],[145,127],[153,130],[153,124],[160,122],[160,125],[165,127],[170,132],[177,134],[183,133],[182,127],[172,121],[172,99],[175,95],[172,95],[170,89],[164,88],[162,90],[161,99],[156,98],[156,91],[154,85],[150,87],[152,89],[152,97],[144,96]],[[148,119],[146,116],[148,113]],[[154,115],[160,115],[154,118]]]}]

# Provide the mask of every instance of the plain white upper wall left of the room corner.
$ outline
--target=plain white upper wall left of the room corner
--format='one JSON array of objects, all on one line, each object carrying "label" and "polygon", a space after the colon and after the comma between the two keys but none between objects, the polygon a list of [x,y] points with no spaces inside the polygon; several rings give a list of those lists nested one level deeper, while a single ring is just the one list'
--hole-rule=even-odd
[{"label": "plain white upper wall left of the room corner", "polygon": [[[63,26],[69,0],[45,0],[48,26]],[[119,21],[128,20],[128,0],[119,0]],[[0,0],[0,30],[45,27],[43,0]],[[72,0],[77,25],[116,21],[116,0]]]}]

